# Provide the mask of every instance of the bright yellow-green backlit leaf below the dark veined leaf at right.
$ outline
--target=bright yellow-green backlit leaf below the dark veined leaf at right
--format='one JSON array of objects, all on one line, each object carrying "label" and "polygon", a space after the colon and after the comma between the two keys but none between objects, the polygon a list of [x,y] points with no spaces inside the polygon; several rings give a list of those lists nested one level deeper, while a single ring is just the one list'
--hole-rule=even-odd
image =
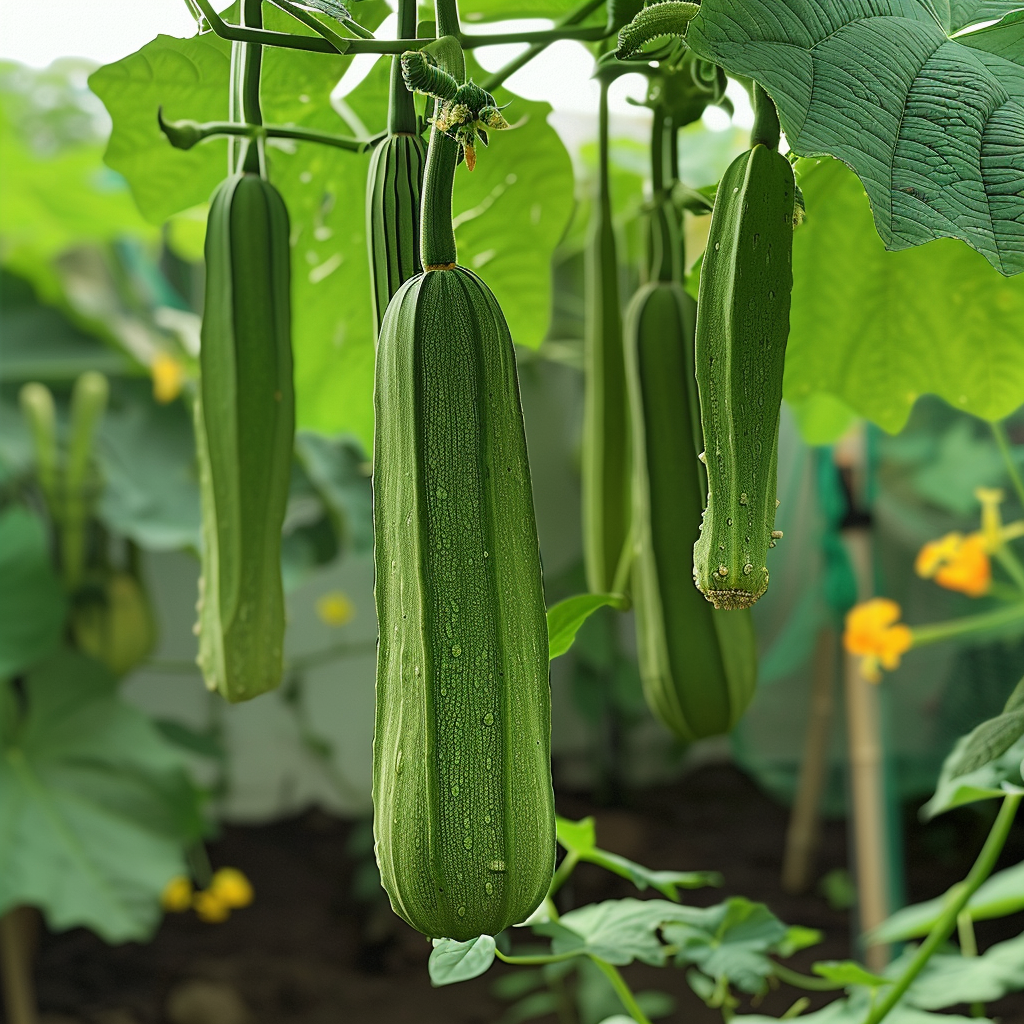
[{"label": "bright yellow-green backlit leaf below the dark veined leaf at right", "polygon": [[798,168],[807,220],[794,237],[786,398],[830,396],[891,432],[927,392],[990,420],[1024,401],[1024,281],[949,239],[886,252],[849,170]]}]

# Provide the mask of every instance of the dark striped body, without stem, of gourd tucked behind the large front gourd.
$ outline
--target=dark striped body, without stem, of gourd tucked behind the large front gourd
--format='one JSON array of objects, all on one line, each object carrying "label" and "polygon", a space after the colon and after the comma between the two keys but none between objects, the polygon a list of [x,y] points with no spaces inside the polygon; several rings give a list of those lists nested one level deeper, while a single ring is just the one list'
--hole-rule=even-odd
[{"label": "dark striped body, without stem, of gourd tucked behind the large front gourd", "polygon": [[419,135],[389,135],[373,153],[367,178],[367,238],[375,327],[395,292],[420,265],[420,197],[426,146]]}]

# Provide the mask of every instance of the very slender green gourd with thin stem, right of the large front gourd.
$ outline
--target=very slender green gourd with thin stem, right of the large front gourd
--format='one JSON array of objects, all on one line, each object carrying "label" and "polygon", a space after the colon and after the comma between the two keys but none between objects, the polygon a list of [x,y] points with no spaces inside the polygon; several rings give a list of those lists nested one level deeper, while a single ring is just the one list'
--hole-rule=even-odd
[{"label": "very slender green gourd with thin stem, right of the large front gourd", "polygon": [[587,586],[609,593],[629,535],[629,413],[618,259],[608,176],[608,83],[601,82],[598,195],[585,253],[583,547]]}]

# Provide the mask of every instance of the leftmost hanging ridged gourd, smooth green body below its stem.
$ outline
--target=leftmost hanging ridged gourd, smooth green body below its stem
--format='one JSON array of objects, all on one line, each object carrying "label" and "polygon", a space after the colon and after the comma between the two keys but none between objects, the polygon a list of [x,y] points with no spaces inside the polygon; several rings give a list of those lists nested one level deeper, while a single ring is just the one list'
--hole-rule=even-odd
[{"label": "leftmost hanging ridged gourd, smooth green body below its stem", "polygon": [[214,193],[196,402],[203,508],[199,664],[231,701],[281,682],[281,528],[288,503],[292,383],[288,211],[255,174]]}]

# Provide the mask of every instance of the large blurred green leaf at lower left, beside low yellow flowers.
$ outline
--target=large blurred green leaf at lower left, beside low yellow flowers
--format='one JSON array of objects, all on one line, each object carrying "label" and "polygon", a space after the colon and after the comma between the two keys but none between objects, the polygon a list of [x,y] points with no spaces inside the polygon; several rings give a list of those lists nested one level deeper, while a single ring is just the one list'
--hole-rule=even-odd
[{"label": "large blurred green leaf at lower left, beside low yellow flowers", "polygon": [[57,654],[0,689],[0,913],[144,939],[202,830],[178,755],[98,663]]}]

